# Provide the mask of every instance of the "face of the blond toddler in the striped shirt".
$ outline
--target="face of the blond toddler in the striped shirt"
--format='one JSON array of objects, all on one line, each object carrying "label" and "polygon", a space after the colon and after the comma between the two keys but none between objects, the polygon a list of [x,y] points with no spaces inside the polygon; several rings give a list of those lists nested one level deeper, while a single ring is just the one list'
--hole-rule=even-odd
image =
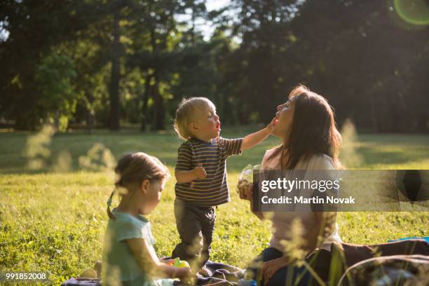
[{"label": "face of the blond toddler in the striped shirt", "polygon": [[190,127],[195,137],[207,142],[218,137],[221,130],[219,116],[213,108],[198,110],[195,122],[192,122]]}]

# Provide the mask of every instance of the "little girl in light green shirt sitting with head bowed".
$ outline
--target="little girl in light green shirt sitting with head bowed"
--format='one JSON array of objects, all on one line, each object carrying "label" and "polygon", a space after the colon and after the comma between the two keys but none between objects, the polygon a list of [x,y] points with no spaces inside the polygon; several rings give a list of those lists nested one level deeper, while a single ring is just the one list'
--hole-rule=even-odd
[{"label": "little girl in light green shirt sitting with head bowed", "polygon": [[[158,259],[151,224],[144,217],[159,203],[170,177],[168,168],[158,158],[137,152],[123,156],[115,172],[118,181],[107,202],[103,285],[172,285],[172,279],[158,278],[188,277],[190,268],[175,268],[168,265],[170,260]],[[111,211],[115,191],[121,191],[121,203]]]}]

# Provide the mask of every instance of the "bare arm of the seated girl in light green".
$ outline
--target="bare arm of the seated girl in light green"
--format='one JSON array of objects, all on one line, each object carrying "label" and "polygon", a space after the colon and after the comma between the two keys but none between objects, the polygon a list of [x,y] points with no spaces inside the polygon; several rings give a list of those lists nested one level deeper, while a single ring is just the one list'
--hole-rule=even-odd
[{"label": "bare arm of the seated girl in light green", "polygon": [[151,277],[183,279],[191,275],[191,268],[175,268],[162,263],[146,239],[131,238],[125,241],[142,271],[150,273]]}]

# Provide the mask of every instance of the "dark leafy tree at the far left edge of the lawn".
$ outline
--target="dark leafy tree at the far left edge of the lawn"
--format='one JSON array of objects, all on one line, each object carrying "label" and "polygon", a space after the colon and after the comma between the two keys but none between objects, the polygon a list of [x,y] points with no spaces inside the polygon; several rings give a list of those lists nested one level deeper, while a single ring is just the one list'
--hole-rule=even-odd
[{"label": "dark leafy tree at the far left edge of the lawn", "polygon": [[[0,22],[7,23],[8,39],[0,42],[1,113],[17,129],[34,129],[43,114],[35,74],[55,47],[85,29],[90,3],[70,1],[4,1]],[[43,100],[42,100],[43,101]]]}]

